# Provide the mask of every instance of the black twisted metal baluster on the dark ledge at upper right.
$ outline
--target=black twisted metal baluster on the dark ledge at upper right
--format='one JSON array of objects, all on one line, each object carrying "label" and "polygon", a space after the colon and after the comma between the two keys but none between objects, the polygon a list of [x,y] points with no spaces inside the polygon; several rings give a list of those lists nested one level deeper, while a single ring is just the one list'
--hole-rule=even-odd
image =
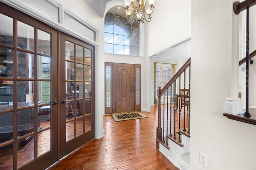
[{"label": "black twisted metal baluster on the dark ledge at upper right", "polygon": [[245,117],[251,117],[249,113],[249,6],[246,7],[246,111]]}]

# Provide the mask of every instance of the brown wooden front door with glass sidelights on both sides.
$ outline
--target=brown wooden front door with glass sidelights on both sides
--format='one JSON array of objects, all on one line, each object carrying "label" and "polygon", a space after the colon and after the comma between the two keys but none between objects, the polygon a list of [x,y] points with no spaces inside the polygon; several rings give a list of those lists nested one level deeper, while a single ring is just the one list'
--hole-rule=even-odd
[{"label": "brown wooden front door with glass sidelights on both sides", "polygon": [[138,64],[105,63],[105,114],[141,110],[140,80]]}]

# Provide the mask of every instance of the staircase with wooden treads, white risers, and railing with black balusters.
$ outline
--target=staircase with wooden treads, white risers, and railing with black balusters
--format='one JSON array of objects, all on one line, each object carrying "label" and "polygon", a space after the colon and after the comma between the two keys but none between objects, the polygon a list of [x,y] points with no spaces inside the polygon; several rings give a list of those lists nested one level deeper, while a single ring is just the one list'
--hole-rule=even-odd
[{"label": "staircase with wooden treads, white risers, and railing with black balusters", "polygon": [[180,170],[190,169],[190,64],[189,58],[157,91],[156,147]]}]

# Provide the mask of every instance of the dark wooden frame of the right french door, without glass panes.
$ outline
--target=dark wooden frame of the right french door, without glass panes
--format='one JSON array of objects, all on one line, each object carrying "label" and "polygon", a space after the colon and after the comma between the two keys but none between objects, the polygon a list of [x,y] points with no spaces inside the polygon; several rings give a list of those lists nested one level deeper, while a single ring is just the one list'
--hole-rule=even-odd
[{"label": "dark wooden frame of the right french door, without glass panes", "polygon": [[[60,83],[60,87],[59,87],[59,101],[66,101],[67,103],[61,103],[59,105],[60,107],[60,114],[59,114],[59,154],[60,154],[60,158],[62,158],[63,156],[65,156],[66,154],[70,153],[71,151],[77,149],[78,147],[84,145],[84,143],[90,141],[91,139],[93,139],[95,137],[95,67],[94,67],[94,63],[95,63],[95,48],[92,45],[89,45],[88,43],[84,43],[83,41],[80,41],[70,35],[67,35],[65,33],[60,32],[60,57],[59,57],[59,64],[61,65],[59,67],[59,72],[62,74],[59,74],[59,83]],[[87,49],[89,51],[91,51],[90,53],[90,63],[86,63],[84,61],[84,63],[82,61],[78,62],[76,60],[76,58],[74,58],[73,60],[70,59],[66,59],[66,51],[65,47],[66,47],[66,42],[68,43],[72,43],[74,44],[74,57],[77,57],[77,53],[78,49],[76,49],[76,47],[83,47],[84,49]],[[84,60],[85,60],[85,52],[84,52]],[[68,69],[66,68],[67,64],[66,63],[70,63],[70,64],[74,64],[74,78],[68,78],[69,80],[67,80],[66,77],[66,72],[68,71]],[[78,65],[79,66],[84,66],[84,72],[78,72]],[[90,73],[86,72],[86,67],[90,67]],[[82,74],[81,74],[82,73]],[[80,81],[78,81],[78,75],[82,75],[84,76],[84,79],[80,79]],[[90,78],[86,78],[86,75],[90,75]],[[73,91],[76,91],[76,93],[70,93],[70,86],[68,86],[67,84],[69,83],[74,83],[74,84],[82,84],[84,83],[84,86],[80,86],[80,91],[82,91],[82,94],[76,91],[76,89],[74,89]],[[86,96],[86,85],[88,85],[90,83],[90,95]],[[75,85],[76,87],[76,85]],[[68,92],[68,93],[67,93]],[[74,94],[74,96],[72,96],[72,98],[69,98],[67,95],[70,94]],[[78,96],[79,95],[79,96]],[[82,115],[76,116],[76,115],[72,115],[72,118],[69,119],[69,117],[67,118],[66,116],[66,112],[68,112],[67,106],[70,108],[70,104],[74,102],[76,103],[74,108],[75,110],[78,110],[79,113],[82,113]],[[78,106],[79,105],[79,106]],[[90,108],[88,108],[88,106]],[[81,108],[80,108],[81,107]],[[80,110],[82,109],[82,110]],[[89,111],[88,111],[89,110]],[[87,112],[86,112],[87,111]],[[74,114],[74,112],[72,113]],[[83,133],[81,135],[76,135],[76,122],[80,119],[83,119],[84,121],[84,126],[86,123],[86,117],[90,118],[90,127],[91,129],[85,129],[83,130]],[[72,123],[74,122],[74,123]],[[68,127],[68,123],[72,123],[74,125],[74,138],[71,139],[70,141],[67,141],[66,139],[66,131],[68,131],[67,127]],[[87,131],[86,131],[87,130]],[[66,142],[65,142],[66,141]]]}]

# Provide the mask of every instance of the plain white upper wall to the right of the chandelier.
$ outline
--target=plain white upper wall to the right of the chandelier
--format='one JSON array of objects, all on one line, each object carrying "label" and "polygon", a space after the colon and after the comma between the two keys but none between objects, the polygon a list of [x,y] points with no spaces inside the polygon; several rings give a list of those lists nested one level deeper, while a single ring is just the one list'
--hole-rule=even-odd
[{"label": "plain white upper wall to the right of the chandelier", "polygon": [[152,54],[191,35],[190,0],[156,0],[146,23],[146,54]]}]

